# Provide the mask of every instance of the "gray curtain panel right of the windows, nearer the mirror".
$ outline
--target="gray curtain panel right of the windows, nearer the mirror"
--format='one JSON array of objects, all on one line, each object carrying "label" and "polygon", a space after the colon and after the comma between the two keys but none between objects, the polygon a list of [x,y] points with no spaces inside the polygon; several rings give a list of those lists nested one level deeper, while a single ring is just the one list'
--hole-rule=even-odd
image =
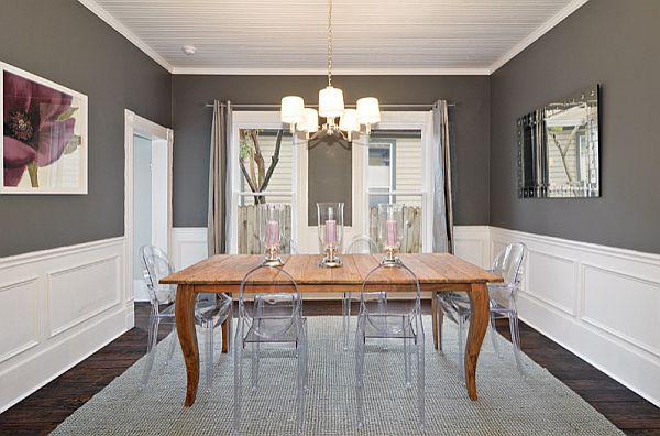
[{"label": "gray curtain panel right of the windows, nearer the mirror", "polygon": [[433,252],[453,253],[451,153],[447,101],[433,105]]}]

